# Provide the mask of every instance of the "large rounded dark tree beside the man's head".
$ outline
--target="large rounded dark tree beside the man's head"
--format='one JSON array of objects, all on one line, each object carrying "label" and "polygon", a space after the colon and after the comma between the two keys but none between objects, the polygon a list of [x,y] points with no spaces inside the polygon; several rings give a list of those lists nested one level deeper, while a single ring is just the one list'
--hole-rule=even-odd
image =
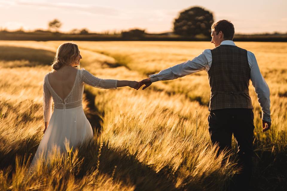
[{"label": "large rounded dark tree beside the man's head", "polygon": [[210,36],[213,14],[201,7],[191,7],[180,12],[179,17],[173,23],[175,34],[183,36],[195,36],[203,34]]}]

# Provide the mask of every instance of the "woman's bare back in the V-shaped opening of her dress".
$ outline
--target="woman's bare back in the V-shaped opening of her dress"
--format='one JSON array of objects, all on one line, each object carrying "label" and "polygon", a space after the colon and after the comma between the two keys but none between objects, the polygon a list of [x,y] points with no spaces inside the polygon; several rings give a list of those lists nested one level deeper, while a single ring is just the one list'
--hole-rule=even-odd
[{"label": "woman's bare back in the V-shaped opening of her dress", "polygon": [[71,92],[76,79],[77,70],[78,69],[73,67],[62,67],[48,74],[51,87],[62,100]]}]

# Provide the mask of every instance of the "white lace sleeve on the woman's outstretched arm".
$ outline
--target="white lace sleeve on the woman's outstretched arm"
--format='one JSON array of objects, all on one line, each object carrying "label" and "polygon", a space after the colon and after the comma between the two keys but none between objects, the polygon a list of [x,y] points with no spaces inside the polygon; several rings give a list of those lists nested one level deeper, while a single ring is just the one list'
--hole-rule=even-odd
[{"label": "white lace sleeve on the woman's outstretched arm", "polygon": [[84,68],[82,69],[82,81],[84,84],[93,87],[103,89],[117,89],[117,80],[97,78]]}]

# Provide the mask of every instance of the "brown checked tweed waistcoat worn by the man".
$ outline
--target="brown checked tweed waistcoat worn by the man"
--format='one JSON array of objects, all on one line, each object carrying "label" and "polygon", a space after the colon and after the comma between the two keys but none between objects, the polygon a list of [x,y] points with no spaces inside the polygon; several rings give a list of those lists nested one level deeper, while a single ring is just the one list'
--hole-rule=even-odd
[{"label": "brown checked tweed waistcoat worn by the man", "polygon": [[225,108],[253,109],[249,96],[250,67],[247,50],[233,45],[211,49],[208,70],[210,85],[209,111]]}]

